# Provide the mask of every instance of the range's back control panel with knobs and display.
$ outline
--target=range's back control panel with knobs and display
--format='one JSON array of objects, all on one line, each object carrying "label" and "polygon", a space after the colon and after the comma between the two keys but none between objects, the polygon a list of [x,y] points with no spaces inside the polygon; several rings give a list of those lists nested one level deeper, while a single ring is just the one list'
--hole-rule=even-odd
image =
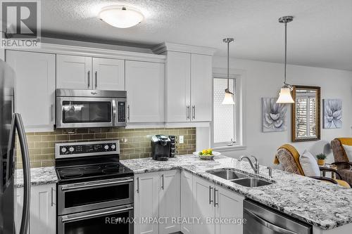
[{"label": "range's back control panel with knobs and display", "polygon": [[56,144],[56,158],[65,155],[67,155],[68,157],[80,157],[84,155],[111,155],[119,153],[120,147],[118,141],[96,141]]}]

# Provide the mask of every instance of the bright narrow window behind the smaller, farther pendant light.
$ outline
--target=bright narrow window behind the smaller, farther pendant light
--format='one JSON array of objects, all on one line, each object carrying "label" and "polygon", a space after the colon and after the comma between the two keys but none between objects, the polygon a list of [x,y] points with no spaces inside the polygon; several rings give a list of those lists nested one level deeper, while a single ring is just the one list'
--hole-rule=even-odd
[{"label": "bright narrow window behind the smaller, farther pendant light", "polygon": [[230,91],[234,93],[235,105],[222,105],[227,79],[214,77],[213,79],[213,147],[233,145],[237,142],[237,91],[236,79],[230,79]]}]

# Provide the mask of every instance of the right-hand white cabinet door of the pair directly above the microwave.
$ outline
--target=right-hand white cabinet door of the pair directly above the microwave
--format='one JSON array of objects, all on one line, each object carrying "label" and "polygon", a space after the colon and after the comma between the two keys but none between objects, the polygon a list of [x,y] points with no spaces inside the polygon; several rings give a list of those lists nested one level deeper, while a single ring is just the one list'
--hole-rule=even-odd
[{"label": "right-hand white cabinet door of the pair directly above the microwave", "polygon": [[93,58],[93,89],[125,90],[125,60]]}]

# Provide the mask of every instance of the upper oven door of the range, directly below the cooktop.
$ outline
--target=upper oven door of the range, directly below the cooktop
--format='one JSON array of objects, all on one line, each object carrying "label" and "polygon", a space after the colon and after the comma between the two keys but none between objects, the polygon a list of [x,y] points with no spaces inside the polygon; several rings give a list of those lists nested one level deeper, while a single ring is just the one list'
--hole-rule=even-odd
[{"label": "upper oven door of the range, directly below the cooktop", "polygon": [[58,186],[58,215],[133,203],[133,177]]}]

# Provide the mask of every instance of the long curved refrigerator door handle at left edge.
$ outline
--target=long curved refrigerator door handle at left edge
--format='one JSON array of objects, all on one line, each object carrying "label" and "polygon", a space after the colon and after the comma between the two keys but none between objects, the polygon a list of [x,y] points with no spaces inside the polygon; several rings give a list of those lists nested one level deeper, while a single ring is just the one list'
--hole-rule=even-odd
[{"label": "long curved refrigerator door handle at left edge", "polygon": [[30,160],[25,127],[23,126],[22,117],[18,113],[15,113],[15,124],[18,131],[23,163],[23,212],[19,234],[27,234],[30,218]]}]

